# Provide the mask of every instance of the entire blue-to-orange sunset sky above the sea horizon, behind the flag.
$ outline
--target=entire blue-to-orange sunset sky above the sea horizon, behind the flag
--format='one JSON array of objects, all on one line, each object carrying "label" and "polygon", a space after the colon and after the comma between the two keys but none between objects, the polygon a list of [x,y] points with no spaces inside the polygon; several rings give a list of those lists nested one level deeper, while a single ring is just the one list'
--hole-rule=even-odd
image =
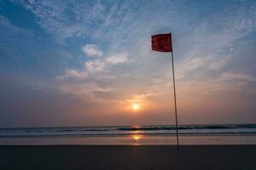
[{"label": "entire blue-to-orange sunset sky above the sea horizon, behind the flag", "polygon": [[[0,127],[256,122],[256,2],[0,1]],[[138,109],[132,109],[137,105]]]}]

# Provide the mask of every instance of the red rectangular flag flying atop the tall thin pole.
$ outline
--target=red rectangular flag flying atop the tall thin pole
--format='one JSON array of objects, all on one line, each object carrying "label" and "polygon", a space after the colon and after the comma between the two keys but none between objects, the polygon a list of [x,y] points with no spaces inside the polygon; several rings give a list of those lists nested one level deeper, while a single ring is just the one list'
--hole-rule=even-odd
[{"label": "red rectangular flag flying atop the tall thin pole", "polygon": [[172,52],[172,34],[157,34],[152,36],[152,50]]}]

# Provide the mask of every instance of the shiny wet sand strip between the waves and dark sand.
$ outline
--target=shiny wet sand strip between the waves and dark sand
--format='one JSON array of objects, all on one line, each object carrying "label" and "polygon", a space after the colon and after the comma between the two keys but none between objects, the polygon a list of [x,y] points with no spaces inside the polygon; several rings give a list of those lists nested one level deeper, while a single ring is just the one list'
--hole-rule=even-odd
[{"label": "shiny wet sand strip between the waves and dark sand", "polygon": [[[256,144],[256,135],[179,136],[180,144]],[[171,135],[1,137],[0,145],[175,145]]]}]

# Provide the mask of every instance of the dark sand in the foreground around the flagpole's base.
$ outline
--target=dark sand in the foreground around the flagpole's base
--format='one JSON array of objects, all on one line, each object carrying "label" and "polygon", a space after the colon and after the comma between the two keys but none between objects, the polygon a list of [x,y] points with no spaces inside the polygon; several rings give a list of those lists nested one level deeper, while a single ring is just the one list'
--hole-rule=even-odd
[{"label": "dark sand in the foreground around the flagpole's base", "polygon": [[256,145],[0,146],[1,170],[256,169]]}]

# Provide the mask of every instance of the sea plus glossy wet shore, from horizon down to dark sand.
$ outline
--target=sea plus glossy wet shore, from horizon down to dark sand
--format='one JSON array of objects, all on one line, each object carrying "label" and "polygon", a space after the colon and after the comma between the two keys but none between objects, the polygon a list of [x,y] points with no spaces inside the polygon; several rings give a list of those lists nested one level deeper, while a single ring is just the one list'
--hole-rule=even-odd
[{"label": "sea plus glossy wet shore, from horizon down to dark sand", "polygon": [[[256,144],[256,124],[178,126],[181,144]],[[172,125],[0,128],[0,144],[175,144]]]}]

